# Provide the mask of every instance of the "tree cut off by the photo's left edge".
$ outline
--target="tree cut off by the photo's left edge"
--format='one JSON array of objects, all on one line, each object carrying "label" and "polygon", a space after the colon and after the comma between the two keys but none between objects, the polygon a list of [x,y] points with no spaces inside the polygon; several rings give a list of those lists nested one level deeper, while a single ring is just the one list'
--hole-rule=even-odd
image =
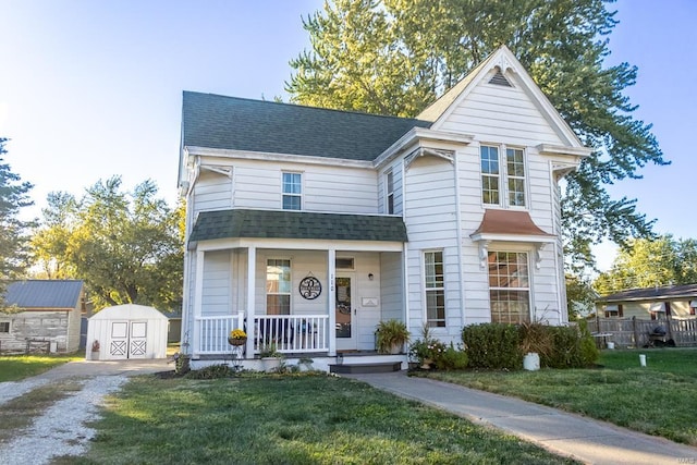
[{"label": "tree cut off by the photo's left edge", "polygon": [[32,221],[20,219],[20,210],[33,203],[28,192],[32,184],[21,182],[20,175],[12,172],[10,164],[3,161],[7,138],[0,138],[0,307],[8,280],[22,276],[27,266],[27,235]]}]

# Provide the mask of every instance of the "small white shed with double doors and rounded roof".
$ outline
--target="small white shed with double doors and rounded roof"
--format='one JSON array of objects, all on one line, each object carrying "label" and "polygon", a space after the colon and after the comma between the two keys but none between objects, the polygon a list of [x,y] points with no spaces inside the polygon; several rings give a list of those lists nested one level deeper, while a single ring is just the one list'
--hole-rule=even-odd
[{"label": "small white shed with double doors and rounded roof", "polygon": [[107,307],[89,318],[88,360],[166,358],[168,318],[144,305]]}]

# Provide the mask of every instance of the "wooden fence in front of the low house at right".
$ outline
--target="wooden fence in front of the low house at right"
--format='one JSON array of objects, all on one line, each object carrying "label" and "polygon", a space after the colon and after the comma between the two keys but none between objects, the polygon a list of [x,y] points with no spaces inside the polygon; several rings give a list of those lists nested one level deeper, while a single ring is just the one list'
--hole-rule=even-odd
[{"label": "wooden fence in front of the low house at right", "polygon": [[[656,329],[662,327],[665,336],[661,342],[672,341],[676,346],[697,345],[697,318],[644,320],[632,318],[596,318],[588,320],[588,330],[594,334],[609,334],[608,341],[620,347],[644,347],[656,341]],[[670,344],[673,345],[673,344]]]}]

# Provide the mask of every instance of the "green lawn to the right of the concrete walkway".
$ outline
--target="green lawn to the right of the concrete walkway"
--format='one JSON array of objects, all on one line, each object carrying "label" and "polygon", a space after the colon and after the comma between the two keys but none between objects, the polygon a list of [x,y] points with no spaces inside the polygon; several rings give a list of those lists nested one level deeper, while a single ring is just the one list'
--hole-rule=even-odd
[{"label": "green lawn to the right of the concrete walkway", "polygon": [[[639,366],[639,354],[647,366]],[[697,445],[697,350],[603,351],[601,367],[427,374]]]}]

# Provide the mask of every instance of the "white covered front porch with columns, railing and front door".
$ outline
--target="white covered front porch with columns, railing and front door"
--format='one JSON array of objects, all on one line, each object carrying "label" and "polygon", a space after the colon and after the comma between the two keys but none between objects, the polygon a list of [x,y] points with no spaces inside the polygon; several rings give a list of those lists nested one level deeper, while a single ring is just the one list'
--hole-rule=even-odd
[{"label": "white covered front porch with columns, railing and front door", "polygon": [[[308,219],[309,213],[291,215]],[[304,223],[304,234],[315,238],[297,237],[293,227],[285,228],[285,237],[192,234],[197,238],[189,241],[189,250],[195,247],[192,318],[184,340],[193,360],[234,357],[246,367],[271,348],[288,360],[335,363],[342,354],[377,356],[378,322],[406,317],[405,232],[395,235],[388,230],[387,236],[376,237],[364,229],[347,237],[345,224],[342,229],[334,217],[366,217],[323,216],[334,224],[321,233]],[[403,225],[395,217],[368,218],[370,224],[378,218]],[[242,346],[228,341],[237,328],[247,333]]]}]

